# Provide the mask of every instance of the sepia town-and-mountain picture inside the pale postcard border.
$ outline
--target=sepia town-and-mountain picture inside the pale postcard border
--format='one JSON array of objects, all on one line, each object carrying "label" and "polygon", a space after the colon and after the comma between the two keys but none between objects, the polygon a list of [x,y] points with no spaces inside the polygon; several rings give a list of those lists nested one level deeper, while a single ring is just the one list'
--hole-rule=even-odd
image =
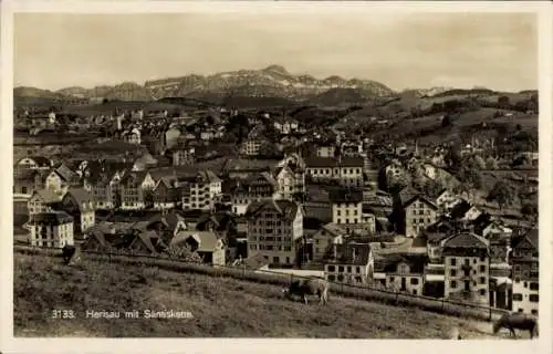
[{"label": "sepia town-and-mountain picture inside the pale postcard border", "polygon": [[12,14],[13,337],[546,337],[538,12],[240,9]]}]

